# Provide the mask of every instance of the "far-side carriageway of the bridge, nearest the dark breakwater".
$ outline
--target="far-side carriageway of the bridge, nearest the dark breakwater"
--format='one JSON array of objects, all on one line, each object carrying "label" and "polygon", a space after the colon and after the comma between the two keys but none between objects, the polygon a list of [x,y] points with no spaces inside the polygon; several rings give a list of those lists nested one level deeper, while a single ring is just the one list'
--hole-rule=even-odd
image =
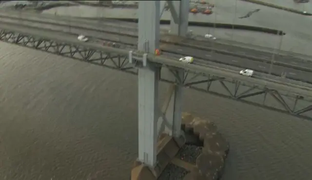
[{"label": "far-side carriageway of the bridge, nearest the dark breakwater", "polygon": [[[46,22],[50,23],[62,23],[62,24],[71,24],[72,26],[80,26],[80,27],[86,27],[86,28],[92,28],[92,29],[98,29],[103,31],[110,31],[110,32],[119,32],[124,34],[130,34],[130,35],[136,35],[137,36],[137,24],[131,25],[131,23],[127,23],[125,25],[120,25],[120,21],[118,20],[104,20],[104,21],[98,21],[95,22],[94,20],[85,20],[85,19],[77,19],[77,18],[69,18],[69,17],[59,17],[59,16],[51,16],[51,15],[43,15],[43,14],[34,14],[34,13],[22,13],[23,15],[27,16],[28,20],[37,20],[42,21],[43,19]],[[10,16],[10,17],[16,17],[20,18],[21,14],[17,12],[0,12],[1,16]],[[25,17],[25,16],[24,16]],[[118,30],[116,31],[116,28]],[[168,31],[163,30],[163,33],[166,33]],[[253,48],[245,48],[241,46],[235,46],[230,45],[227,43],[220,43],[216,41],[210,41],[210,40],[183,40],[184,43],[193,44],[193,45],[199,45],[202,47],[205,47],[206,49],[214,48],[221,51],[231,52],[235,54],[240,54],[244,56],[250,56],[258,59],[263,60],[271,60],[272,54],[275,53],[272,49],[272,52],[268,51],[261,51],[258,49]],[[302,61],[301,57],[296,56],[288,56],[285,55],[285,52],[282,52],[279,55],[276,55],[274,57],[275,61],[284,61],[289,62],[292,61],[291,64],[297,64],[298,62]]]}]

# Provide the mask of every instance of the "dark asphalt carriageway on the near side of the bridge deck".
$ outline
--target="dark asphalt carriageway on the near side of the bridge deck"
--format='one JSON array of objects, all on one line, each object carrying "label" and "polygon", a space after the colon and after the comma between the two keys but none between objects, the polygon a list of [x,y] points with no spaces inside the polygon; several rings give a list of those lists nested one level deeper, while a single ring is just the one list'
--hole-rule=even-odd
[{"label": "dark asphalt carriageway on the near side of the bridge deck", "polygon": [[[2,22],[10,22],[10,23],[22,23],[28,26],[32,27],[41,27],[46,29],[51,29],[55,31],[62,31],[66,33],[71,33],[77,36],[78,34],[85,34],[85,35],[92,35],[91,39],[97,41],[97,43],[102,43],[103,40],[108,41],[114,41],[119,42],[123,44],[130,45],[127,47],[123,47],[126,49],[136,49],[137,44],[137,38],[134,36],[127,36],[123,32],[120,34],[111,34],[111,33],[105,33],[98,31],[97,29],[85,29],[80,28],[79,26],[72,26],[70,29],[68,28],[68,24],[53,24],[53,22],[43,22],[40,21],[27,21],[27,20],[12,20],[10,18],[1,18]],[[117,27],[111,26],[111,29],[115,28],[116,32],[118,31],[125,31],[122,28],[117,29]],[[70,31],[70,32],[69,32]],[[195,42],[194,42],[195,43]],[[202,60],[206,60],[206,64],[213,64],[215,66],[223,66],[224,64],[239,67],[239,68],[249,68],[254,69],[256,72],[261,73],[268,73],[271,64],[263,61],[255,61],[250,60],[247,58],[241,58],[241,57],[234,57],[229,56],[221,53],[216,52],[209,52],[203,49],[196,49],[192,47],[185,47],[181,45],[174,45],[174,44],[168,44],[168,43],[162,43],[161,49],[165,52],[172,53],[172,54],[178,54],[178,55],[184,55],[184,56],[194,56],[196,58],[196,61],[200,61],[201,64],[203,64]],[[290,63],[296,63],[296,65],[300,65],[306,68],[312,69],[312,64],[298,61],[298,60],[289,60]],[[312,83],[312,80],[309,78],[311,72],[302,71],[300,69],[289,68],[289,67],[283,67],[280,65],[273,65],[273,71],[272,74],[275,76],[281,76],[283,73],[286,73],[286,77],[292,80],[299,80],[303,82]]]}]

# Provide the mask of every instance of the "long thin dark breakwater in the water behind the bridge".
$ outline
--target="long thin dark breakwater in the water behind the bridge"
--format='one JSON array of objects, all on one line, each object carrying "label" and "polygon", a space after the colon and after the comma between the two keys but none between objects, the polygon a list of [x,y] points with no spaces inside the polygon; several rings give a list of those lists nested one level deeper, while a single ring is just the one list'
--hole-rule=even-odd
[{"label": "long thin dark breakwater in the water behind the bridge", "polygon": [[[135,18],[108,18],[112,20],[122,20],[127,22],[138,22]],[[160,20],[160,24],[170,24],[170,20]],[[189,21],[190,26],[201,26],[201,27],[215,27],[215,28],[224,28],[224,29],[238,29],[238,30],[249,30],[256,32],[263,32],[269,34],[275,34],[283,36],[286,33],[282,30],[270,29],[265,27],[256,27],[256,26],[248,26],[248,25],[240,25],[240,24],[225,24],[225,23],[211,23],[211,22],[196,22]]]}]

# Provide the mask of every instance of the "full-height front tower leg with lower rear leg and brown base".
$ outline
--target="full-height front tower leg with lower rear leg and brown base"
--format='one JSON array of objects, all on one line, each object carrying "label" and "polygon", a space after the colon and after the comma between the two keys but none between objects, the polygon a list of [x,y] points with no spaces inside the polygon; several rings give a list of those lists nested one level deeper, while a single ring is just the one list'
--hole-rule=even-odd
[{"label": "full-height front tower leg with lower rear leg and brown base", "polygon": [[[159,48],[160,1],[140,1],[138,19],[137,47],[143,53],[143,63],[138,67],[138,159],[131,179],[156,180],[184,144],[180,138],[183,72],[161,70],[159,64],[148,60]],[[161,71],[178,80],[170,86],[165,103],[159,109]]]}]

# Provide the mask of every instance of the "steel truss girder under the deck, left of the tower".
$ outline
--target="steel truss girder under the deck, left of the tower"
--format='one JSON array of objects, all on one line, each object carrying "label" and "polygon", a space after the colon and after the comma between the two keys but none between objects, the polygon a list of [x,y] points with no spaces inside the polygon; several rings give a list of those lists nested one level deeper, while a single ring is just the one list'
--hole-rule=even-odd
[{"label": "steel truss girder under the deck, left of the tower", "polygon": [[25,36],[19,33],[5,30],[0,30],[0,40],[41,51],[46,51],[67,58],[87,61],[92,64],[137,74],[137,69],[134,68],[133,65],[129,64],[128,57],[116,53],[92,50],[83,46],[66,44],[54,40],[46,40],[39,37]]}]

